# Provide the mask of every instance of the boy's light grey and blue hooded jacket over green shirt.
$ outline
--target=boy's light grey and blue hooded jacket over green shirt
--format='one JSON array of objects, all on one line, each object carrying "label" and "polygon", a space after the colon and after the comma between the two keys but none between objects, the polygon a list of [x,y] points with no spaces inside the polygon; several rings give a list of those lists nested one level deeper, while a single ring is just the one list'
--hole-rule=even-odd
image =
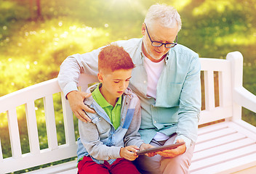
[{"label": "boy's light grey and blue hooded jacket over green shirt", "polygon": [[[87,92],[92,92],[96,86],[91,86]],[[102,164],[104,160],[112,164],[116,158],[120,158],[121,147],[129,145],[140,147],[143,144],[138,133],[141,120],[140,100],[131,89],[127,88],[124,91],[121,123],[116,130],[104,109],[92,96],[84,103],[95,109],[96,114],[87,112],[92,123],[79,120],[78,159],[90,156],[98,164]]]}]

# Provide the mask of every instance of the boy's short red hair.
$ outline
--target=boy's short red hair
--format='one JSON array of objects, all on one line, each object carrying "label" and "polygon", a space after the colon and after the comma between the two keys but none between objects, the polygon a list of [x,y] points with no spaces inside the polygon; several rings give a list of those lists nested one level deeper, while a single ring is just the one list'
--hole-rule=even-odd
[{"label": "boy's short red hair", "polygon": [[100,70],[130,70],[135,67],[132,58],[123,47],[108,45],[101,49],[98,57],[98,67]]}]

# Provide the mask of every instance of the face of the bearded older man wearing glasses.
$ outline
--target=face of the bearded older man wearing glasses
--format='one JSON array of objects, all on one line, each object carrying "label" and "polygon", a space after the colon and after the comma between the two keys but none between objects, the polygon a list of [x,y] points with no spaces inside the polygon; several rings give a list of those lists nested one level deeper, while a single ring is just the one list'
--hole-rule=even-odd
[{"label": "face of the bearded older man wearing glasses", "polygon": [[[142,26],[143,33],[143,53],[148,59],[151,59],[152,62],[159,62],[164,55],[167,54],[169,49],[165,48],[164,45],[160,47],[152,46],[152,41],[159,41],[161,43],[173,43],[178,33],[178,27],[175,28],[165,28],[158,23],[148,26],[148,33],[145,28],[145,24]],[[148,34],[151,36],[151,40],[148,37]]]}]

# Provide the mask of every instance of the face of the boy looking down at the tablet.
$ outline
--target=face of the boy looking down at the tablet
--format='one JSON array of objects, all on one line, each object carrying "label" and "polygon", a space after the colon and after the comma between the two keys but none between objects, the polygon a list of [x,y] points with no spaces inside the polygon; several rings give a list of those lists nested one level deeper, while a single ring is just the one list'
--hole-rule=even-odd
[{"label": "face of the boy looking down at the tablet", "polygon": [[124,94],[124,90],[129,85],[129,79],[132,77],[131,70],[104,70],[98,73],[98,78],[103,86],[100,91],[105,99],[118,98]]}]

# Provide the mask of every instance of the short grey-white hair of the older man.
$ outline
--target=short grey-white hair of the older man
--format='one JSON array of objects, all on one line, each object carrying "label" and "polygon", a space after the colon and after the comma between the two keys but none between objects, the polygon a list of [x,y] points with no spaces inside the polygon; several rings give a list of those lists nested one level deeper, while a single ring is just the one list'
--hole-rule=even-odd
[{"label": "short grey-white hair of the older man", "polygon": [[181,29],[180,14],[174,7],[165,4],[154,4],[145,15],[145,24],[150,26],[154,22],[159,22],[160,25],[166,28],[175,28],[176,24]]}]

